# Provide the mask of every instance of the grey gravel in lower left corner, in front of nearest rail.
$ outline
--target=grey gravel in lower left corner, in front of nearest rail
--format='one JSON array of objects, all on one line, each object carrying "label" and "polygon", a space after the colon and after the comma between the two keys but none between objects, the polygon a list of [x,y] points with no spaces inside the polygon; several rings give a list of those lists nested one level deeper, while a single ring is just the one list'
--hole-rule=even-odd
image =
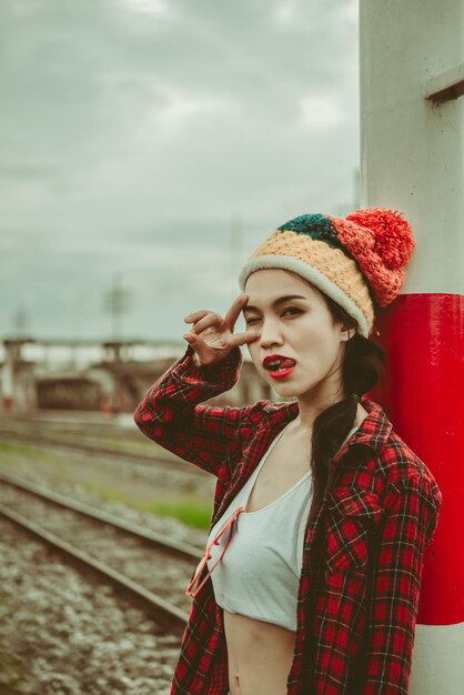
[{"label": "grey gravel in lower left corner, in front of nearest rail", "polygon": [[3,518],[0,557],[1,694],[168,695],[176,637]]}]

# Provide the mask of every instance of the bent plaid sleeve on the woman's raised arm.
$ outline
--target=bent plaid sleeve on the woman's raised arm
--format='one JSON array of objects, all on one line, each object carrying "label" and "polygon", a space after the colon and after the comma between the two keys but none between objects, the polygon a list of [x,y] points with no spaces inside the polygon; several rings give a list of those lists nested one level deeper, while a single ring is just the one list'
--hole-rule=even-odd
[{"label": "bent plaid sleeve on the woman's raised arm", "polygon": [[221,362],[201,369],[195,367],[192,354],[189,346],[153,384],[137,407],[134,420],[148,437],[226,482],[241,445],[242,424],[256,405],[200,405],[234,385],[242,354],[235,348]]}]

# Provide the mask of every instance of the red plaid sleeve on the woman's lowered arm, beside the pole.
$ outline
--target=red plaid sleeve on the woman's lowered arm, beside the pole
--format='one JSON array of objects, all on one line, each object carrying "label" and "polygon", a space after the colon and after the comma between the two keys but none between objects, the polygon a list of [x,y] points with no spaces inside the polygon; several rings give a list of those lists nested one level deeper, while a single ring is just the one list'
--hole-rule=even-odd
[{"label": "red plaid sleeve on the woman's lowered arm, beside the pole", "polygon": [[407,694],[424,551],[442,502],[436,483],[422,476],[395,487],[374,553],[362,695]]}]

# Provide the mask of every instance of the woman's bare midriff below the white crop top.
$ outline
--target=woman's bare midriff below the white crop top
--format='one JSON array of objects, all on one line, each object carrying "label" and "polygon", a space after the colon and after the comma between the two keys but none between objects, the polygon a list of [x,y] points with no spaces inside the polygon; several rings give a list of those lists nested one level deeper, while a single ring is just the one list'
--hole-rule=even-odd
[{"label": "woman's bare midriff below the white crop top", "polygon": [[231,695],[285,695],[295,633],[224,611]]}]

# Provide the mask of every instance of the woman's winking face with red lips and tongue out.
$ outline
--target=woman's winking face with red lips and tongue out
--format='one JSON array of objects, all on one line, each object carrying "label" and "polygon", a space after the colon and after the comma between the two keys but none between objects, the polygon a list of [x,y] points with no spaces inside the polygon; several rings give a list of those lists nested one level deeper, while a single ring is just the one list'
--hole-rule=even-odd
[{"label": "woman's winking face with red lips and tongue out", "polygon": [[250,275],[245,293],[246,328],[259,333],[250,355],[273,390],[317,402],[343,397],[344,343],[354,330],[333,319],[319,291],[285,270],[265,269]]}]

